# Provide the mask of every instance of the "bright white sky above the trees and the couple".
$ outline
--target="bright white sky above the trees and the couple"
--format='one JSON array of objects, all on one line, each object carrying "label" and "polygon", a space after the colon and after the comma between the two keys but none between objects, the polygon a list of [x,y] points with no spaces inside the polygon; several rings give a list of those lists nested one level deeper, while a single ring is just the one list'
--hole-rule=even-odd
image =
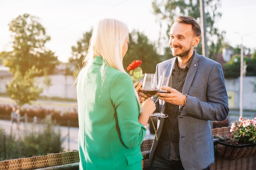
[{"label": "bright white sky above the trees and the couple", "polygon": [[[222,18],[215,24],[220,31],[226,31],[225,41],[231,46],[243,43],[256,49],[256,1],[220,1]],[[0,51],[10,50],[12,39],[8,24],[24,13],[39,18],[51,37],[45,46],[62,62],[71,57],[71,46],[76,46],[83,33],[90,31],[102,18],[121,20],[130,31],[140,31],[155,42],[159,23],[151,3],[152,0],[0,0]]]}]

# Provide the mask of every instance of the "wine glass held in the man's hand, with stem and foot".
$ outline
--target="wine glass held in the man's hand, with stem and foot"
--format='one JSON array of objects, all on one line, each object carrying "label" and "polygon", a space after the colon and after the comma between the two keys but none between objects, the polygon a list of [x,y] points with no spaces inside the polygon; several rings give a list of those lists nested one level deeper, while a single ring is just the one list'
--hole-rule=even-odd
[{"label": "wine glass held in the man's hand, with stem and foot", "polygon": [[[157,86],[157,92],[158,93],[171,93],[167,90],[161,89],[161,87],[163,87],[163,86],[170,86],[171,87],[171,85],[172,85],[172,77],[169,76],[169,75],[161,75],[160,79],[159,79],[159,82],[158,82],[158,86]],[[153,113],[153,116],[168,117],[167,114],[163,113],[163,105],[164,105],[165,101],[159,99],[159,104],[160,104],[160,101],[162,101],[161,111],[159,113]]]}]

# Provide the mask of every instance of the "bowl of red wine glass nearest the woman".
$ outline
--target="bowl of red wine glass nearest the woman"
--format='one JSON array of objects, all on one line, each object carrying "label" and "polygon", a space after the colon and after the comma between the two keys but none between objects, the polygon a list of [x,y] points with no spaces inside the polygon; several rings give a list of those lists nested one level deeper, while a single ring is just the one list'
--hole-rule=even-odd
[{"label": "bowl of red wine glass nearest the woman", "polygon": [[146,94],[148,98],[157,94],[157,75],[153,73],[145,73],[142,84],[142,93]]}]

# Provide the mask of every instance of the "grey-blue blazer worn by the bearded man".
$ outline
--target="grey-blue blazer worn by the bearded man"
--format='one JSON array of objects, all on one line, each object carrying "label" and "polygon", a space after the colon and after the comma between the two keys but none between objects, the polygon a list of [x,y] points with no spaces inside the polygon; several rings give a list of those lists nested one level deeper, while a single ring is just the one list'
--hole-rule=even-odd
[{"label": "grey-blue blazer worn by the bearded man", "polygon": [[[170,74],[176,57],[157,64],[156,74]],[[214,163],[211,121],[222,121],[229,113],[227,90],[219,63],[195,53],[183,91],[186,105],[178,115],[180,131],[180,159],[185,170],[202,170]],[[158,121],[160,138],[164,119]],[[152,160],[158,140],[151,148]]]}]

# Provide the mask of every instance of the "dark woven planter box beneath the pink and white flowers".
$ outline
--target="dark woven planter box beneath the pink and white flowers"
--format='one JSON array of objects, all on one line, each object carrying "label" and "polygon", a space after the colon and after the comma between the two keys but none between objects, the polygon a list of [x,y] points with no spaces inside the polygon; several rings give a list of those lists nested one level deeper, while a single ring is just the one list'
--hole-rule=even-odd
[{"label": "dark woven planter box beneath the pink and white flowers", "polygon": [[216,156],[222,159],[240,159],[256,156],[256,144],[231,145],[217,140]]}]

